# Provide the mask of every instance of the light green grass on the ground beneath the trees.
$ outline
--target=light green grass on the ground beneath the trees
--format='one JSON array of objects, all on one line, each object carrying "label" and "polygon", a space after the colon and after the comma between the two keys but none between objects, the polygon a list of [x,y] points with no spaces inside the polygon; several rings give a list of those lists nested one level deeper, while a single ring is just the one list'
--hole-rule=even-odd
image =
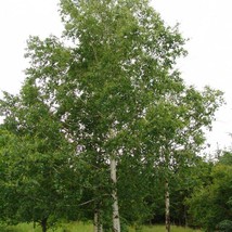
[{"label": "light green grass on the ground beneath the trees", "polygon": [[[34,229],[33,224],[21,223],[14,227],[1,228],[1,232],[41,232],[40,227]],[[64,223],[61,228],[49,230],[49,232],[92,232],[93,225],[91,223],[72,222]],[[129,228],[129,232],[136,232],[133,228]],[[140,232],[165,232],[164,225],[144,225]],[[181,227],[171,227],[171,232],[201,232],[199,230],[185,229]]]}]

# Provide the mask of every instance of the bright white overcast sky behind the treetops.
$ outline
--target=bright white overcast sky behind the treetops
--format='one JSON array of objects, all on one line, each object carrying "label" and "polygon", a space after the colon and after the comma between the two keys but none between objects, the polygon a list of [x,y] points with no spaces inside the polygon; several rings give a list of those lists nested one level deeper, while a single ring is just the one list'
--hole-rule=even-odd
[{"label": "bright white overcast sky behind the treetops", "polygon": [[[59,0],[0,1],[0,91],[18,92],[27,67],[24,53],[30,35],[61,35],[57,3]],[[217,113],[207,142],[211,150],[231,146],[232,1],[152,0],[151,4],[167,25],[179,23],[180,33],[189,39],[189,55],[178,62],[185,83],[224,92],[227,105]]]}]

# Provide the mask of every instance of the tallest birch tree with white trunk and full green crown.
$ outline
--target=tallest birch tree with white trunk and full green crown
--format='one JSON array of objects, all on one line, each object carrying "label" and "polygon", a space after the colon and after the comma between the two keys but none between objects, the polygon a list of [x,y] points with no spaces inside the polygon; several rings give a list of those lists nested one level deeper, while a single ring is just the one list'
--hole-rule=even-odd
[{"label": "tallest birch tree with white trunk and full green crown", "polygon": [[[100,181],[92,181],[95,205],[101,207],[107,194],[115,204],[116,192],[108,193],[107,186],[116,191],[117,179],[112,182],[109,173],[103,178],[105,167],[114,157],[115,169],[126,155],[121,138],[132,133],[146,108],[182,88],[172,66],[185,54],[184,40],[177,27],[165,26],[146,0],[62,0],[61,17],[64,41],[28,41],[27,79],[60,117],[78,154],[95,170],[103,168]],[[113,224],[113,231],[119,228]]]}]

